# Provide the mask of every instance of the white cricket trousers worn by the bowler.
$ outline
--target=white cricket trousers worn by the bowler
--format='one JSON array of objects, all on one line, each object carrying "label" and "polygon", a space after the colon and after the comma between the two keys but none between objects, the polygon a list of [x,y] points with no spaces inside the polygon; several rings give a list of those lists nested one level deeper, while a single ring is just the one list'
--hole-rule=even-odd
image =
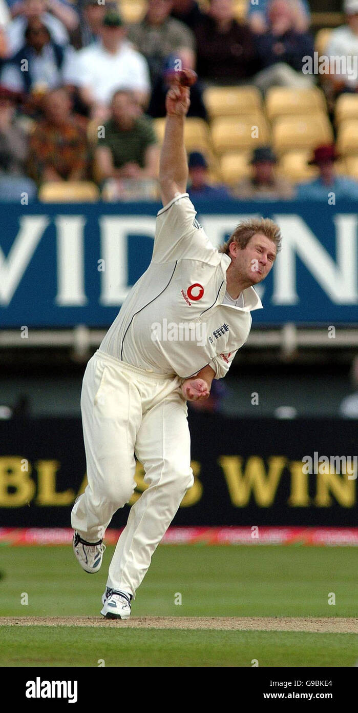
[{"label": "white cricket trousers worn by the bowler", "polygon": [[88,486],[71,525],[88,542],[102,538],[135,490],[135,456],[147,490],[132,505],[115,548],[107,587],[135,597],[155,548],[194,483],[186,401],[178,376],[142,371],[104,352],[88,361],[81,411]]}]

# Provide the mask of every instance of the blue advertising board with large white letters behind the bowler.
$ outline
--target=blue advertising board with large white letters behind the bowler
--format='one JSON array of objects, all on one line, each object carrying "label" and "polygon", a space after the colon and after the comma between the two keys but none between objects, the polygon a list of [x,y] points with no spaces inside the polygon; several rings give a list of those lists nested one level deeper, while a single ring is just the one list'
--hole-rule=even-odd
[{"label": "blue advertising board with large white letters behind the bowler", "polygon": [[[0,324],[107,327],[149,265],[155,203],[0,205]],[[219,247],[246,217],[278,222],[283,247],[257,292],[253,327],[358,324],[352,202],[212,202],[198,220]],[[170,240],[170,235],[168,236]]]}]

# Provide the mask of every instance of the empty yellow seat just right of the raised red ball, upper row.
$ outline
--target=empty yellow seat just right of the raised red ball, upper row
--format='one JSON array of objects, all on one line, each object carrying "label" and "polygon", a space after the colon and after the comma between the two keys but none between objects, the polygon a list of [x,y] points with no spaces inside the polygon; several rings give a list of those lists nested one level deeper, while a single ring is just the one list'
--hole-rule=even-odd
[{"label": "empty yellow seat just right of the raised red ball, upper row", "polygon": [[204,103],[211,119],[261,111],[261,95],[256,87],[209,87]]}]

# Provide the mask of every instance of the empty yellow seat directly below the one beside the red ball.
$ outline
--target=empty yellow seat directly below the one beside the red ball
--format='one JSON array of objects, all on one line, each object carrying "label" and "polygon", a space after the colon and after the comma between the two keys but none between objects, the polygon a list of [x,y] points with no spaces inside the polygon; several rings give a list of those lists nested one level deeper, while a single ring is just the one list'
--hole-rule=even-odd
[{"label": "empty yellow seat directly below the one beside the red ball", "polygon": [[211,140],[218,155],[228,151],[252,150],[270,142],[268,124],[263,114],[215,119]]}]

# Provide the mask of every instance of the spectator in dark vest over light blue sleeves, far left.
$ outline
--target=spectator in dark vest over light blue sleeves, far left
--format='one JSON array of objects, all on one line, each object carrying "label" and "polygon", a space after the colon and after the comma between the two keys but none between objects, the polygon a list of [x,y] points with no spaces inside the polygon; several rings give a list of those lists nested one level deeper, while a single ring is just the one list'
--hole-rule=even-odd
[{"label": "spectator in dark vest over light blue sleeves, far left", "polygon": [[[73,49],[62,47],[51,40],[41,19],[28,20],[25,45],[7,61],[1,71],[1,83],[13,91],[44,93],[63,83],[65,62],[70,61]],[[27,71],[23,71],[23,61]]]}]

